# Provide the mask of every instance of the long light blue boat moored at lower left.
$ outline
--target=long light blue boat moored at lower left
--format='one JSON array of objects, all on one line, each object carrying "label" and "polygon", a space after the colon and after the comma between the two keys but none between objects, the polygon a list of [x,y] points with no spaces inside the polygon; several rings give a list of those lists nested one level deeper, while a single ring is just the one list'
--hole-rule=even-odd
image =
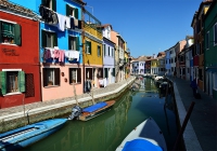
[{"label": "long light blue boat moored at lower left", "polygon": [[0,134],[0,150],[25,148],[60,129],[67,119],[47,120]]}]

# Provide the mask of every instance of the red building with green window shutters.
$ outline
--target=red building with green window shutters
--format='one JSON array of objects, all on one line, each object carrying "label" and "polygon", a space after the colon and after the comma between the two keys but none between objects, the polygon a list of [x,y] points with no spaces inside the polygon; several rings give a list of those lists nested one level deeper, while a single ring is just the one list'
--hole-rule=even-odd
[{"label": "red building with green window shutters", "polygon": [[0,109],[41,101],[39,23],[9,2],[0,8]]}]

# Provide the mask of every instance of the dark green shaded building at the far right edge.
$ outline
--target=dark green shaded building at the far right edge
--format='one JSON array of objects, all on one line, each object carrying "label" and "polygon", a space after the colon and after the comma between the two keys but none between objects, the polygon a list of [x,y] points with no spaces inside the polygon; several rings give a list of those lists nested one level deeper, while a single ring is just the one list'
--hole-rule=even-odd
[{"label": "dark green shaded building at the far right edge", "polygon": [[217,2],[213,2],[204,17],[205,92],[217,99]]}]

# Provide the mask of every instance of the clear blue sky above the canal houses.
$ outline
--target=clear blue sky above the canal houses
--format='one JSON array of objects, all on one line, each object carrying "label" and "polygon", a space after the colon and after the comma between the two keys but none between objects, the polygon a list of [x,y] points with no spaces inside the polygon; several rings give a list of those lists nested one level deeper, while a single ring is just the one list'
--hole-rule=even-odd
[{"label": "clear blue sky above the canal houses", "polygon": [[132,57],[166,51],[186,36],[202,0],[84,0],[86,9],[127,41]]}]

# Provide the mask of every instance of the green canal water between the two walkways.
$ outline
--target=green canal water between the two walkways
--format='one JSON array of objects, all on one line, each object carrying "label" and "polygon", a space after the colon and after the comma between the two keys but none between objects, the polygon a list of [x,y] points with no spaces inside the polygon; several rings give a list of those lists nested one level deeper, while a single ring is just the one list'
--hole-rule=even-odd
[{"label": "green canal water between the two walkways", "polygon": [[159,97],[154,82],[143,79],[140,91],[126,92],[112,110],[87,122],[68,121],[59,132],[24,151],[115,151],[123,139],[149,116],[162,129],[167,149],[173,150],[178,134],[176,114],[173,106],[164,108],[164,105],[165,97]]}]

